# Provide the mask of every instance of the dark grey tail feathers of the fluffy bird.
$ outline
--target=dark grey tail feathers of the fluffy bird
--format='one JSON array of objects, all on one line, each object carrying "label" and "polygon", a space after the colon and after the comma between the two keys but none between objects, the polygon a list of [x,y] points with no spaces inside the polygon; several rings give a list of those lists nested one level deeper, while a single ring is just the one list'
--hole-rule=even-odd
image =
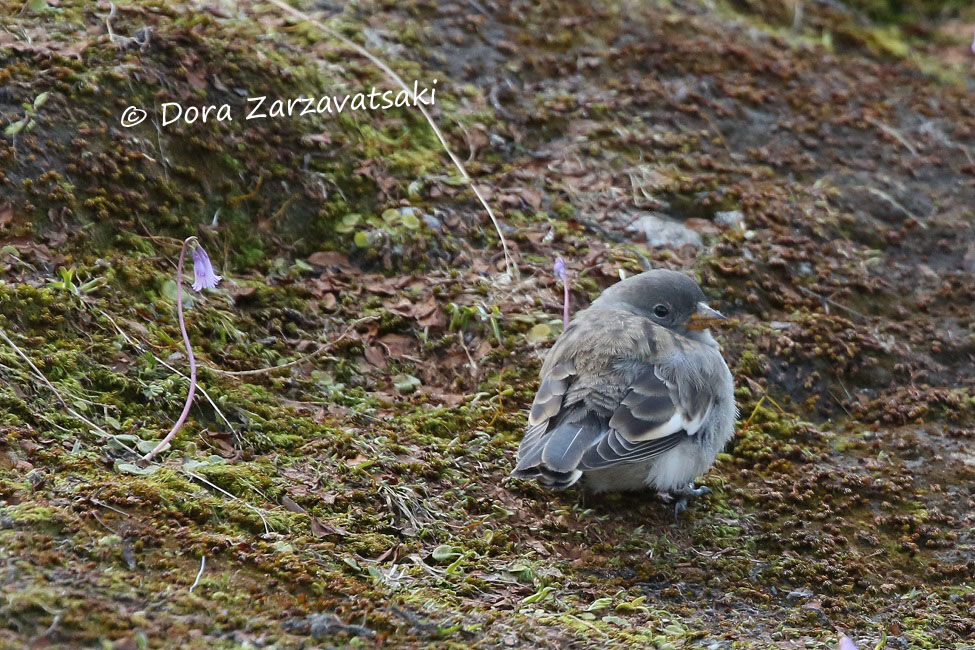
[{"label": "dark grey tail feathers of the fluffy bird", "polygon": [[581,409],[567,415],[551,431],[544,431],[546,421],[525,433],[512,476],[535,479],[556,490],[564,490],[579,480],[579,461],[599,440],[606,423]]}]

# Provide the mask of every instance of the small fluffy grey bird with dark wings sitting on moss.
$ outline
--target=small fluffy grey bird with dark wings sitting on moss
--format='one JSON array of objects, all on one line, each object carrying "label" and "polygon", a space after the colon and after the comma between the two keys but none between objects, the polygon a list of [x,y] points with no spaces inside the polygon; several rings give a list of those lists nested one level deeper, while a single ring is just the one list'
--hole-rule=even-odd
[{"label": "small fluffy grey bird with dark wings sitting on moss", "polygon": [[595,492],[706,494],[704,474],[734,435],[731,372],[710,327],[726,320],[692,279],[647,271],[576,314],[552,346],[513,476]]}]

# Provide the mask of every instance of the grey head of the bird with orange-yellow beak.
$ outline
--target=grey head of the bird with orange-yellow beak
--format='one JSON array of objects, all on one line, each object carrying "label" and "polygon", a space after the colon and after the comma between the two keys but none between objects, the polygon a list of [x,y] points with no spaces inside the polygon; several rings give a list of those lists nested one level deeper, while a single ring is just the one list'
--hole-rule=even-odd
[{"label": "grey head of the bird with orange-yellow beak", "polygon": [[666,269],[646,271],[618,282],[593,304],[621,307],[684,335],[728,320],[708,306],[704,292],[694,280]]}]

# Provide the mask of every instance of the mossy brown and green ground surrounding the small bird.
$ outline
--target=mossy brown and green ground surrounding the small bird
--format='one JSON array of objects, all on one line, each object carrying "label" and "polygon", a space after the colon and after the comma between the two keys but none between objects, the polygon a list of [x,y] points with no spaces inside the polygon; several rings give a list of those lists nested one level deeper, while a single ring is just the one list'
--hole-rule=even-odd
[{"label": "mossy brown and green ground surrounding the small bird", "polygon": [[[49,93],[0,141],[0,327],[36,366],[0,344],[0,644],[971,647],[975,111],[943,44],[828,3],[329,5],[439,79],[508,279],[418,113],[236,119],[385,83],[313,27],[140,0],[118,47],[107,6],[43,4],[0,3],[2,123]],[[170,100],[235,120],[118,125]],[[705,247],[626,243],[648,209]],[[187,303],[206,393],[140,474],[187,387],[188,235],[226,276]],[[642,257],[736,317],[740,433],[679,522],[507,478],[555,255],[577,308]]]}]

